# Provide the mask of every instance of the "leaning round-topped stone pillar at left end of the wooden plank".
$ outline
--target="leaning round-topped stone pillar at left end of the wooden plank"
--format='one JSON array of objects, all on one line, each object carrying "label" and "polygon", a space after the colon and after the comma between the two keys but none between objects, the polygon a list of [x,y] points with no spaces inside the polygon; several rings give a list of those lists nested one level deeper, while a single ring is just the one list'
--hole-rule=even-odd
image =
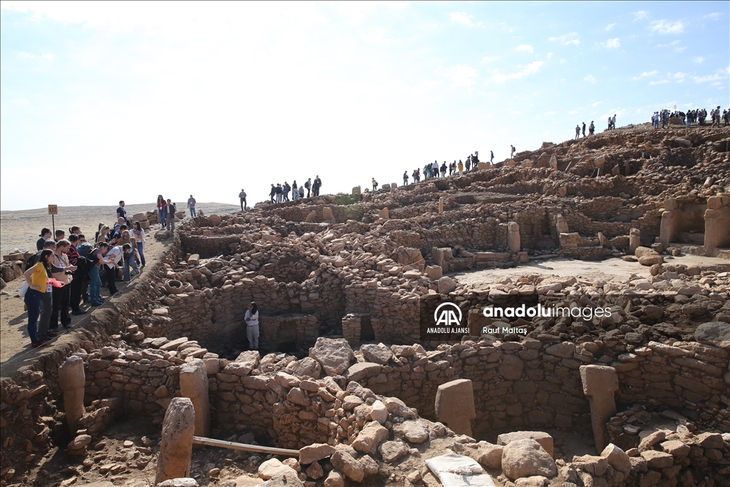
[{"label": "leaning round-topped stone pillar at left end of the wooden plank", "polygon": [[162,422],[155,485],[171,478],[190,477],[195,436],[195,410],[187,397],[174,397]]}]

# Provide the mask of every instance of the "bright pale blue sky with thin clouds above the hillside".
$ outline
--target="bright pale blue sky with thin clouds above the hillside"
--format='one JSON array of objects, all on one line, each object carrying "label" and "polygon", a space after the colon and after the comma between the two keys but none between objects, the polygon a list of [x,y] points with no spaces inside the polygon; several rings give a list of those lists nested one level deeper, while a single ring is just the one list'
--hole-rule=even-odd
[{"label": "bright pale blue sky with thin clouds above the hillside", "polygon": [[[268,198],[730,104],[730,2],[0,2],[0,207]],[[44,183],[34,185],[39,177]]]}]

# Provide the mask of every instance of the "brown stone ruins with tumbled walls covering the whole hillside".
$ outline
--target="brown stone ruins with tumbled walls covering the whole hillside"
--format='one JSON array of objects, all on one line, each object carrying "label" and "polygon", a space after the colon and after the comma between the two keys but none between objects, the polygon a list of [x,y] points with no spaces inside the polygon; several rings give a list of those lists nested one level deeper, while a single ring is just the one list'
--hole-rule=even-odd
[{"label": "brown stone ruins with tumbled walls covering the whole hillside", "polygon": [[[626,128],[356,204],[187,219],[4,378],[1,486],[53,448],[77,485],[223,486],[208,470],[245,459],[238,486],[730,485],[729,142]],[[97,448],[131,417],[158,440]],[[289,455],[203,472],[200,438]]]}]

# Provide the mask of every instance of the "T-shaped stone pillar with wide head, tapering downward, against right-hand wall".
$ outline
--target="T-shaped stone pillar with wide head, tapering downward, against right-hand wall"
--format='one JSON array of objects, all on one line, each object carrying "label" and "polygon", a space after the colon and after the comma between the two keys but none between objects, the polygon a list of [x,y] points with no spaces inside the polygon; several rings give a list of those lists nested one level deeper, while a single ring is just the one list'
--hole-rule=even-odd
[{"label": "T-shaped stone pillar with wide head, tapering downward, against right-hand wall", "polygon": [[581,365],[580,382],[583,383],[583,394],[591,403],[593,437],[596,451],[600,454],[607,445],[606,423],[616,414],[613,393],[618,391],[618,375],[616,369],[606,365]]}]

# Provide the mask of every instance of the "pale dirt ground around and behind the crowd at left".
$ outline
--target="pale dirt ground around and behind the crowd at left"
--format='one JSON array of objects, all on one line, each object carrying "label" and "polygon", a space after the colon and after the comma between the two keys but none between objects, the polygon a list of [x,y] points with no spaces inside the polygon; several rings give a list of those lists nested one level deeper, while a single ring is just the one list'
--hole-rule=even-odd
[{"label": "pale dirt ground around and behind the crowd at left", "polygon": [[[72,225],[80,226],[85,235],[93,242],[96,226],[100,221],[104,223],[112,223],[115,220],[115,210],[117,207],[59,207],[59,216],[56,218],[56,228],[66,229]],[[131,204],[127,207],[127,214],[132,215],[135,212],[152,210],[154,204]],[[234,212],[239,210],[230,204],[223,203],[203,203],[199,204],[198,210],[203,210],[206,215],[213,213]],[[10,250],[18,248],[20,250],[34,250],[35,242],[38,239],[40,230],[47,226],[50,228],[50,216],[45,214],[47,210],[23,210],[17,212],[1,212],[0,215],[0,238],[2,244],[2,252],[7,253]],[[189,215],[185,218],[190,218]],[[145,258],[147,267],[152,266],[161,253],[165,250],[172,240],[167,242],[158,242],[155,240],[154,232],[160,229],[155,224],[147,230],[147,238],[145,243]],[[23,283],[22,279],[16,279],[7,283],[0,297],[0,376],[11,376],[18,367],[33,360],[37,355],[38,349],[31,348],[31,341],[28,338],[28,313],[23,309],[23,299],[18,296],[18,288]],[[135,277],[132,277],[131,283],[125,285],[123,282],[117,283],[118,290],[124,294],[134,288]],[[90,308],[88,304],[82,305],[82,310],[89,311],[86,315],[72,316],[73,326],[83,326],[85,320],[91,316],[91,311],[109,306],[109,291],[107,288],[101,289],[101,297],[107,299],[104,304],[96,308]],[[114,298],[119,299],[119,298]],[[67,335],[69,331],[59,327],[61,334],[50,341],[49,345],[53,346],[61,340],[69,340]],[[73,330],[70,330],[73,331]]]}]

